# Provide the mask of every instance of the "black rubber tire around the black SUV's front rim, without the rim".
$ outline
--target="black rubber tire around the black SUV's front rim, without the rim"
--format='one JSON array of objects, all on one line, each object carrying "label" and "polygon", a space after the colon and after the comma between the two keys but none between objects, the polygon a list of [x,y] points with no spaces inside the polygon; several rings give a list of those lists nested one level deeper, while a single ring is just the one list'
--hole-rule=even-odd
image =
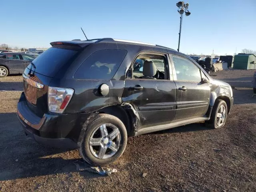
[{"label": "black rubber tire around the black SUV's front rim, without the rim", "polygon": [[[222,123],[221,126],[219,126],[217,124],[217,114],[218,111],[220,109],[221,106],[224,106],[226,113],[225,113],[225,117],[224,117],[224,121]],[[216,100],[212,109],[212,114],[211,114],[211,118],[207,123],[209,128],[213,128],[213,129],[218,129],[218,128],[222,128],[225,125],[226,119],[227,119],[227,115],[228,115],[228,107],[227,104],[224,100]]]}]

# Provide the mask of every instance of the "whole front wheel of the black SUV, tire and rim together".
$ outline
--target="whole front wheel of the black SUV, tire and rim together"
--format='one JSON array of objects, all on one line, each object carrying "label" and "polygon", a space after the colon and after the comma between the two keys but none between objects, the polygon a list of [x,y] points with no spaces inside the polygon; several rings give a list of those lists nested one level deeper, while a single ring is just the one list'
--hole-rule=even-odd
[{"label": "whole front wheel of the black SUV, tire and rim together", "polygon": [[[225,111],[222,110],[223,112],[221,113],[222,120],[220,120],[220,117],[218,117],[218,115],[220,115],[220,112],[221,112],[221,109],[220,109],[221,107],[224,107],[222,109],[225,109]],[[224,112],[225,112],[225,114],[224,114]],[[220,100],[220,99],[216,100],[214,103],[213,109],[212,109],[211,118],[207,122],[208,127],[213,128],[213,129],[222,128],[225,125],[227,115],[228,115],[228,107],[227,107],[226,102],[224,100]]]}]

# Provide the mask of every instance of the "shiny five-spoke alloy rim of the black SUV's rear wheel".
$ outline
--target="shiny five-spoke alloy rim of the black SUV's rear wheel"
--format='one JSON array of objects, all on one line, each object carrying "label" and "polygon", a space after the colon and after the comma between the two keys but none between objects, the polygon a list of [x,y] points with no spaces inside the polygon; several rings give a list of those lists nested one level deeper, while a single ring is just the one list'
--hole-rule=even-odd
[{"label": "shiny five-spoke alloy rim of the black SUV's rear wheel", "polygon": [[119,129],[113,124],[102,124],[90,136],[90,152],[99,159],[107,159],[116,154],[120,142]]}]

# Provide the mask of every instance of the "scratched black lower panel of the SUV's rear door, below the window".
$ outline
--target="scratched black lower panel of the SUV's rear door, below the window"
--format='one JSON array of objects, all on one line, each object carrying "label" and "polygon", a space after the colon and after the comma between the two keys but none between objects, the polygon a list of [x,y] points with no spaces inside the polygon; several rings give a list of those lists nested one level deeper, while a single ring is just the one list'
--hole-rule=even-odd
[{"label": "scratched black lower panel of the SUV's rear door, below the window", "polygon": [[[143,87],[132,90],[132,87]],[[140,115],[141,127],[165,124],[176,112],[176,85],[170,80],[126,79],[122,101],[130,103]]]}]

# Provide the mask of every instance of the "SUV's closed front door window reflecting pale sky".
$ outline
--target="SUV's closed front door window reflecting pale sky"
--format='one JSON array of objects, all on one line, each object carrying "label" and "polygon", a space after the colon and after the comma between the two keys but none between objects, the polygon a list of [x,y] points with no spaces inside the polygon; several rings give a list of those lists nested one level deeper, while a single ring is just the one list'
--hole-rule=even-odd
[{"label": "SUV's closed front door window reflecting pale sky", "polygon": [[172,56],[178,81],[201,82],[200,69],[185,58]]}]

